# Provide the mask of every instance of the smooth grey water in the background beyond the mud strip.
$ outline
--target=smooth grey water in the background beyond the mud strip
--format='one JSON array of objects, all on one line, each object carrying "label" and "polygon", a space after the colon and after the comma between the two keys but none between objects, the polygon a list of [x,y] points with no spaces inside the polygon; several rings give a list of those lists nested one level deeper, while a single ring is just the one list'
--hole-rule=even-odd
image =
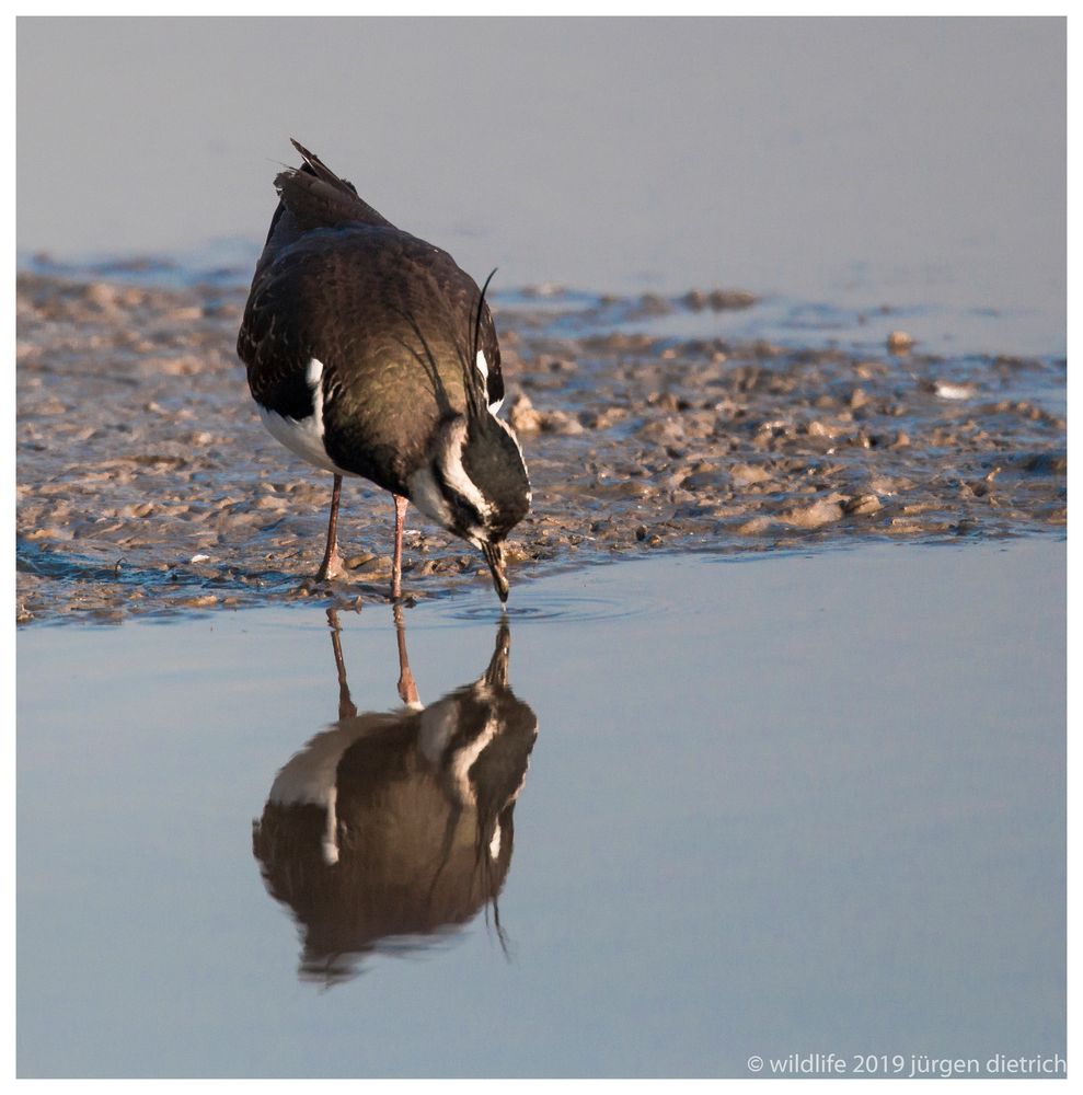
[{"label": "smooth grey water in the background beyond the mud strip", "polygon": [[1065,26],[21,19],[18,244],[232,261],[296,136],[497,287],[739,287],[1063,354]]}]

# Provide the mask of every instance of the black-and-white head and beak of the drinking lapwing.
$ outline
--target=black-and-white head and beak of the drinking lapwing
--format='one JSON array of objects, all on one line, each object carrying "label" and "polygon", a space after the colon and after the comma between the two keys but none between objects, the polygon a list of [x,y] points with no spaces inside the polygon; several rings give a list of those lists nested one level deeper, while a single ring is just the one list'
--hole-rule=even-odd
[{"label": "black-and-white head and beak of the drinking lapwing", "polygon": [[423,514],[481,550],[506,601],[504,541],[530,508],[530,480],[511,427],[488,413],[447,418],[410,491]]}]

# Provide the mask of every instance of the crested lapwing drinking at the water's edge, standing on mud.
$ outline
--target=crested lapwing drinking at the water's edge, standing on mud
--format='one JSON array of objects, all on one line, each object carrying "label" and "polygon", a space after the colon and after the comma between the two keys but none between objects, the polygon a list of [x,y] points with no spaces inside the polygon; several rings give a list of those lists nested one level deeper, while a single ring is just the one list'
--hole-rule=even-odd
[{"label": "crested lapwing drinking at the water's edge, standing on mud", "polygon": [[[334,475],[318,579],[343,577],[343,476],[394,499],[391,596],[402,596],[407,503],[477,548],[506,604],[504,543],[530,508],[482,288],[446,251],[377,212],[291,139],[299,168],[275,176],[278,206],[256,262],[237,350],[261,419]],[[495,270],[493,272],[495,274]]]}]

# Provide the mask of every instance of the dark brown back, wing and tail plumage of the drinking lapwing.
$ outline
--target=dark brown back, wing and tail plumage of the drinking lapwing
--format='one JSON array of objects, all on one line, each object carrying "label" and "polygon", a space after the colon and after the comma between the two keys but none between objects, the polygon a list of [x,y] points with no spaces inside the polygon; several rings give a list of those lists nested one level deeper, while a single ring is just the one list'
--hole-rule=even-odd
[{"label": "dark brown back, wing and tail plumage of the drinking lapwing", "polygon": [[[449,415],[488,417],[504,396],[492,314],[454,260],[390,221],[297,141],[238,338],[262,407],[301,420],[321,370],[334,463],[406,493]],[[485,376],[475,364],[485,357]]]}]

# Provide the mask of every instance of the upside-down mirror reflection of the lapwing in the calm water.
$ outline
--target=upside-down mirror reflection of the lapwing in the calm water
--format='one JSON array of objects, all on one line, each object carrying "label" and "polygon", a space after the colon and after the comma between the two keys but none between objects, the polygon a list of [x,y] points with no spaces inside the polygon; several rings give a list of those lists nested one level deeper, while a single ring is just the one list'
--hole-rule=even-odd
[{"label": "upside-down mirror reflection of the lapwing in the calm water", "polygon": [[418,936],[431,940],[489,903],[504,945],[497,895],[538,734],[508,687],[507,624],[476,681],[423,707],[396,608],[405,706],[359,715],[333,609],[327,618],[338,722],[283,768],[253,827],[264,881],[301,925],[301,976],[343,980],[359,955],[422,945]]}]

